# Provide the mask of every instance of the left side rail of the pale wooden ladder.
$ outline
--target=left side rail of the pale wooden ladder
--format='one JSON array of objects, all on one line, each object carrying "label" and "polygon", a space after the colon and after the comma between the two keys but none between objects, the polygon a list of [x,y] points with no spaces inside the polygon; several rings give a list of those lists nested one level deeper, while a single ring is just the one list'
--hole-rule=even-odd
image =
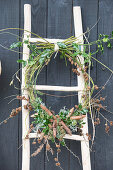
[{"label": "left side rail of the pale wooden ladder", "polygon": [[[29,32],[27,32],[27,31]],[[31,5],[24,5],[24,39],[27,39],[31,32]],[[27,44],[23,44],[23,60],[29,59],[29,48]],[[28,91],[25,88],[25,71],[22,68],[22,95],[28,98]],[[24,105],[28,102],[22,100],[22,170],[30,170],[30,139],[26,139],[29,130],[29,111],[24,109]]]}]

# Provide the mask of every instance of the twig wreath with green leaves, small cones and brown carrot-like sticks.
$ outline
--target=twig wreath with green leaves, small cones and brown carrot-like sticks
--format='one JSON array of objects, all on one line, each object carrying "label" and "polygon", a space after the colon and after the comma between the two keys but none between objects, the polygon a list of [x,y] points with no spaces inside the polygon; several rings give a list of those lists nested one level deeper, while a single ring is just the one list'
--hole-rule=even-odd
[{"label": "twig wreath with green leaves, small cones and brown carrot-like sticks", "polygon": [[[98,52],[104,52],[104,43],[108,48],[112,48],[111,40],[113,39],[113,32],[110,36],[100,34],[99,39],[94,42],[88,42],[86,33],[83,35],[86,41],[85,44],[79,43],[76,37],[70,37],[63,42],[57,42],[56,44],[51,44],[43,38],[42,39],[45,40],[45,42],[37,41],[36,43],[29,43],[29,39],[24,41],[22,39],[21,41],[19,40],[10,46],[10,50],[13,50],[14,48],[22,47],[23,44],[27,44],[27,47],[30,49],[30,56],[27,61],[22,59],[17,60],[18,63],[22,63],[23,67],[26,67],[25,88],[29,92],[29,97],[25,98],[24,96],[16,96],[16,98],[18,100],[27,100],[28,104],[24,105],[24,108],[29,109],[29,111],[32,112],[34,111],[34,114],[32,115],[34,120],[30,125],[26,138],[29,137],[31,131],[35,131],[37,134],[40,134],[40,137],[37,140],[34,139],[32,143],[36,144],[38,142],[40,146],[31,156],[36,156],[39,152],[41,152],[44,145],[46,145],[46,152],[50,151],[53,154],[53,149],[49,142],[51,140],[53,143],[55,143],[57,148],[57,156],[54,158],[54,160],[56,166],[59,167],[60,162],[58,159],[58,154],[61,152],[60,145],[65,146],[69,150],[63,137],[66,133],[72,135],[73,132],[78,132],[80,135],[83,135],[83,118],[87,113],[89,113],[89,116],[92,119],[94,129],[96,125],[100,124],[99,116],[102,116],[106,121],[106,133],[109,132],[110,126],[113,125],[113,122],[105,118],[100,112],[101,109],[107,111],[106,107],[103,106],[105,97],[100,96],[100,91],[105,88],[107,83],[105,83],[105,85],[102,86],[102,88],[99,90],[99,87],[94,84],[93,79],[90,77],[88,71],[88,69],[90,70],[92,62],[91,59],[94,59],[106,67],[111,72],[111,75],[113,74],[113,71],[110,68],[93,57],[93,55]],[[41,38],[38,35],[36,36]],[[94,44],[97,45],[97,50],[95,52],[91,52],[90,47]],[[83,46],[83,51],[81,50],[81,46]],[[50,108],[48,109],[46,107],[41,99],[41,95],[45,93],[35,90],[34,85],[37,84],[37,77],[42,69],[48,65],[52,57],[56,57],[58,52],[60,52],[60,58],[65,59],[66,64],[67,61],[71,63],[72,71],[74,74],[80,76],[80,72],[83,73],[85,88],[83,91],[81,103],[73,106],[71,109],[64,107],[60,109],[58,114],[55,114]],[[84,65],[81,63],[79,56],[84,58]],[[17,74],[18,71],[14,74],[14,76],[19,79]],[[10,85],[14,83],[14,76]],[[98,92],[96,95],[92,96],[94,90],[98,90]],[[21,112],[21,109],[21,107],[13,109],[9,118],[16,116],[19,112]],[[1,123],[6,123],[9,118]],[[87,134],[88,139],[92,140],[92,143],[95,137],[94,133],[95,130],[93,130],[92,138],[90,134]],[[77,157],[72,151],[70,152],[75,157]]]}]

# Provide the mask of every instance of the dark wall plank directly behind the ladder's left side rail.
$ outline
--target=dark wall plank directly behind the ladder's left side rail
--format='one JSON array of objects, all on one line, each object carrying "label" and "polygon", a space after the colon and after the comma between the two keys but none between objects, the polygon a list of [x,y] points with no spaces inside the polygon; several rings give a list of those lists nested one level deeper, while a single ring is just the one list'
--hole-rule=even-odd
[{"label": "dark wall plank directly behind the ladder's left side rail", "polygon": [[[20,18],[20,27],[23,28],[23,23],[24,23],[24,19],[23,19],[23,5],[29,3],[31,4],[31,31],[33,33],[36,33],[42,37],[46,37],[46,27],[47,27],[47,1],[45,0],[32,0],[32,1],[21,1],[21,18]],[[33,35],[32,35],[33,37]],[[38,84],[46,84],[46,68],[44,68],[42,70],[42,72],[40,73],[39,77],[38,77]],[[43,96],[43,101],[45,101],[45,96]],[[33,119],[31,119],[32,121]],[[21,126],[21,122],[20,122],[20,126]],[[19,138],[21,139],[21,131],[20,131],[20,136]],[[32,154],[36,148],[38,147],[38,145],[33,146],[32,145],[32,141],[31,140],[31,146],[30,146],[30,153]],[[20,141],[21,144],[21,141]],[[42,152],[37,155],[36,157],[31,158],[31,165],[30,165],[30,170],[37,170],[37,167],[39,167],[40,169],[44,169],[44,159],[45,159],[45,155],[44,155],[44,149],[42,150]],[[20,165],[20,169],[21,169],[21,153],[19,155],[19,165]]]}]

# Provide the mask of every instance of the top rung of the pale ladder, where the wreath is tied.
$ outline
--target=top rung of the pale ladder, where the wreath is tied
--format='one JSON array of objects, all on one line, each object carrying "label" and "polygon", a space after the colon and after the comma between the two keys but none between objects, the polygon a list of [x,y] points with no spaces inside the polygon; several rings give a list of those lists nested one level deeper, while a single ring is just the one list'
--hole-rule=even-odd
[{"label": "top rung of the pale ladder, where the wreath is tied", "polygon": [[29,42],[37,42],[37,41],[40,41],[40,42],[46,42],[45,40],[47,40],[49,43],[57,43],[57,42],[62,42],[64,41],[63,39],[49,39],[49,38],[29,38]]}]

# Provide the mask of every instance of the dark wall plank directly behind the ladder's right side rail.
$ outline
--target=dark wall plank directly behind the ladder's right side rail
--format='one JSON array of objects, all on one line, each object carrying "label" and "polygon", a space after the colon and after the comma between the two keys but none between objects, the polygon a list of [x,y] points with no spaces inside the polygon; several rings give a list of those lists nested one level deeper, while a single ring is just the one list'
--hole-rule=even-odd
[{"label": "dark wall plank directly behind the ladder's right side rail", "polygon": [[[98,0],[95,1],[89,1],[89,0],[73,0],[73,5],[74,6],[80,6],[81,7],[81,11],[82,11],[82,21],[83,21],[83,32],[85,32],[87,30],[87,28],[91,28],[98,20]],[[74,26],[72,27],[74,28]],[[74,30],[73,30],[73,35],[74,35]],[[90,33],[89,36],[89,41],[94,41],[97,39],[97,25],[93,28],[93,30]],[[96,47],[93,46],[91,48],[91,50],[96,50]],[[96,63],[93,62],[93,67],[91,68],[91,76],[93,77],[94,82],[96,82]],[[72,79],[71,79],[71,85],[73,86],[74,83],[74,79],[76,77],[72,75]],[[75,101],[77,101],[77,99],[75,98]],[[71,100],[71,103],[73,105],[73,100]],[[89,133],[91,133],[91,129],[92,129],[92,125],[91,125],[91,121],[89,121]],[[71,150],[73,150],[74,153],[76,153],[80,159],[81,159],[81,146],[80,146],[80,142],[73,142],[71,141]],[[95,149],[93,149],[93,152],[91,152],[91,168],[92,170],[95,168],[95,157],[94,157],[94,153],[95,153]],[[71,156],[70,158],[70,169],[74,169],[74,164],[75,164],[75,158],[73,158],[73,156]],[[82,169],[82,166],[79,165],[79,162],[76,161],[76,167],[77,169]]]}]

